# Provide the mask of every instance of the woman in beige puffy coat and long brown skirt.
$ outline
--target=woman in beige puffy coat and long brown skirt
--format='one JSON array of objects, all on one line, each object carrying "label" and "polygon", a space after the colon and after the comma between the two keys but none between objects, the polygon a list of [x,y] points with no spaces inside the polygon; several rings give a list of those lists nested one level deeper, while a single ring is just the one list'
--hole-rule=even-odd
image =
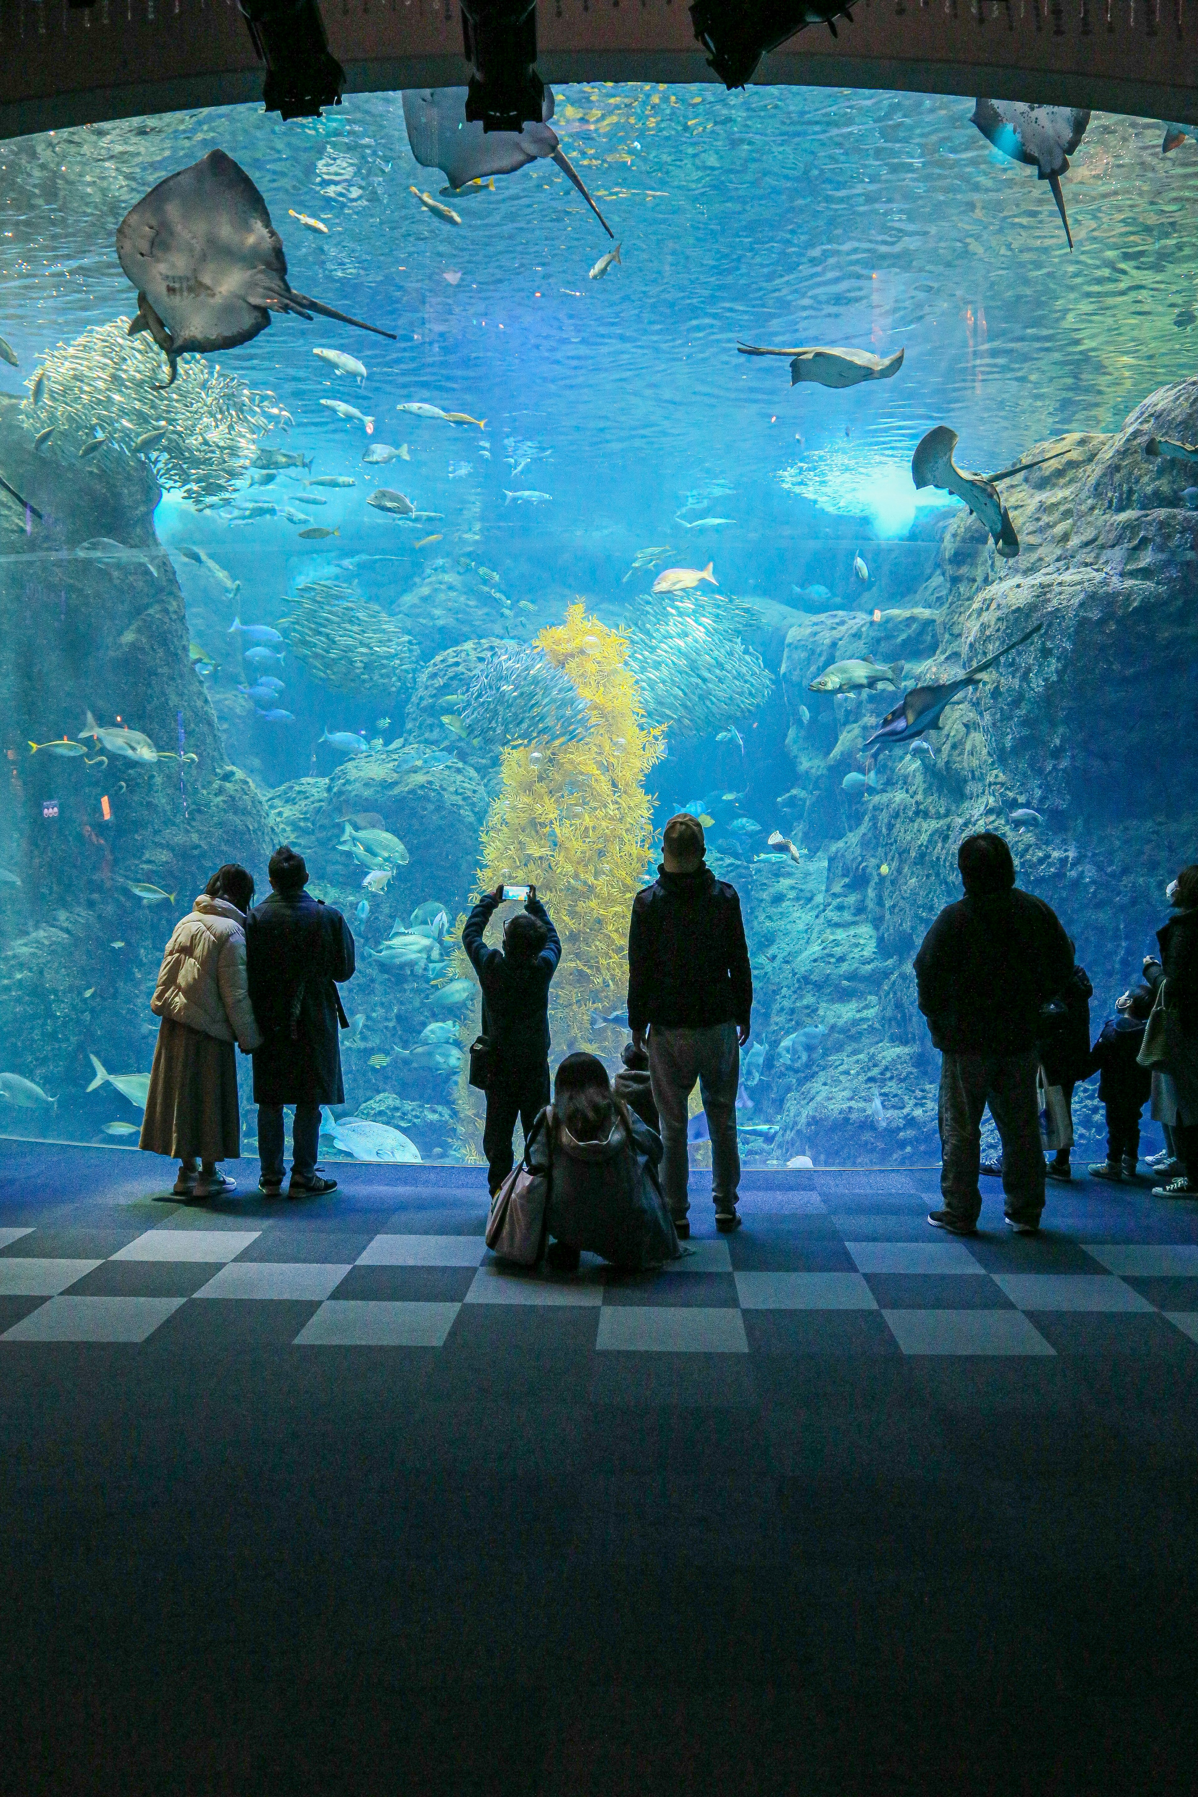
[{"label": "woman in beige puffy coat and long brown skirt", "polygon": [[172,1188],[180,1199],[210,1199],[237,1184],[217,1173],[217,1161],[241,1154],[233,1042],[242,1055],[262,1044],[246,987],[251,898],[253,879],[244,868],[217,868],[174,925],[151,999],[162,1024],[140,1145],[180,1163]]}]

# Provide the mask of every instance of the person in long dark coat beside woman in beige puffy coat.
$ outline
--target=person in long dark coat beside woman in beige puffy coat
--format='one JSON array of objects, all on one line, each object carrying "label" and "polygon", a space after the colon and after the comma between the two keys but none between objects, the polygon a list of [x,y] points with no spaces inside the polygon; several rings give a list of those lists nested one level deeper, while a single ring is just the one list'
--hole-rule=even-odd
[{"label": "person in long dark coat beside woman in beige puffy coat", "polygon": [[354,938],[339,911],[311,898],[304,857],[289,846],[269,859],[271,895],[246,918],[250,1003],[266,1037],[253,1051],[259,1107],[259,1181],[278,1197],[284,1175],[282,1107],[295,1105],[289,1199],[336,1191],[316,1166],[320,1107],[345,1103],[341,996],[334,985],[354,976]]}]

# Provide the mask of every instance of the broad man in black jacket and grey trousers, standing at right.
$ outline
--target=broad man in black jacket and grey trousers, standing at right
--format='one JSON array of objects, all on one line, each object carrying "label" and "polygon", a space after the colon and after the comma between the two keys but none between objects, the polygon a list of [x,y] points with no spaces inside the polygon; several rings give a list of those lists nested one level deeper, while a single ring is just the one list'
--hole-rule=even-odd
[{"label": "broad man in black jacket and grey trousers, standing at right", "polygon": [[920,1010],[941,1051],[939,1190],[929,1222],[973,1235],[981,1120],[990,1105],[1002,1138],[1006,1220],[1035,1235],[1044,1211],[1044,1148],[1036,1107],[1040,1006],[1074,965],[1056,913],[1015,888],[1000,836],[968,836],[957,850],[965,898],[945,906],[916,954]]}]

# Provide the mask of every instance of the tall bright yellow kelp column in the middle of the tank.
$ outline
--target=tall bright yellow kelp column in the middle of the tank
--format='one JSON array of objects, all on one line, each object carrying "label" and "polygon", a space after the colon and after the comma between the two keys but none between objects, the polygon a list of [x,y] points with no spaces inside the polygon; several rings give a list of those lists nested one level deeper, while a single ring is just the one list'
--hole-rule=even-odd
[{"label": "tall bright yellow kelp column in the middle of the tank", "polygon": [[[582,742],[503,751],[478,891],[501,881],[537,888],[562,938],[550,988],[553,1064],[573,1049],[614,1064],[623,1037],[596,1033],[591,1012],[616,1010],[627,996],[629,915],[652,845],[645,776],[661,758],[661,740],[645,724],[625,636],[577,604],[537,643],[591,706],[593,730]],[[462,1121],[463,1136],[472,1134],[465,1105]]]}]

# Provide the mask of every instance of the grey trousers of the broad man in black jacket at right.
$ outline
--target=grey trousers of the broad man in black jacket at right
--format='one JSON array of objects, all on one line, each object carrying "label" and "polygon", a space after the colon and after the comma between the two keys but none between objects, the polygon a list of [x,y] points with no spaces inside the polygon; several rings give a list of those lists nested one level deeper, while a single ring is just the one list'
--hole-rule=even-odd
[{"label": "grey trousers of the broad man in black jacket at right", "polygon": [[982,1208],[977,1190],[981,1121],[990,1105],[1002,1139],[1002,1193],[1006,1213],[1035,1224],[1044,1209],[1044,1148],[1036,1109],[1035,1049],[1026,1055],[943,1055],[939,1069],[939,1190],[945,1209],[975,1224]]}]

